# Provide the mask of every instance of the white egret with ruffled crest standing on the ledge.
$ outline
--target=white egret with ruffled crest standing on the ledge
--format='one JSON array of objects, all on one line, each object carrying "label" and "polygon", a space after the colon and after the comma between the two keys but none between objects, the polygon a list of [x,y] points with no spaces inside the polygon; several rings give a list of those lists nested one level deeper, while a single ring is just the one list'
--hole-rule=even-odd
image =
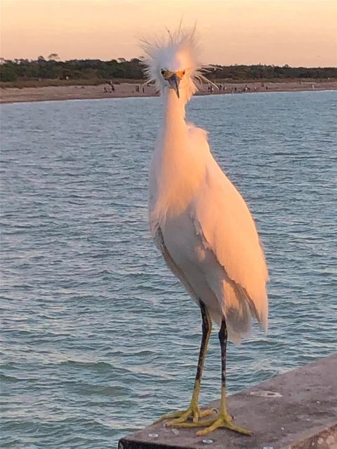
[{"label": "white egret with ruffled crest standing on the ledge", "polygon": [[[148,81],[164,97],[164,114],[150,166],[149,213],[154,242],[169,269],[201,309],[202,339],[192,400],[187,410],[165,415],[166,425],[227,427],[242,434],[227,413],[225,361],[227,336],[239,342],[249,334],[251,316],[267,330],[267,266],[249,208],[216,163],[206,131],[185,121],[185,104],[204,79],[198,71],[194,33],[145,41]],[[217,416],[199,408],[201,373],[212,321],[220,326],[222,376]],[[160,420],[159,420],[160,421]]]}]

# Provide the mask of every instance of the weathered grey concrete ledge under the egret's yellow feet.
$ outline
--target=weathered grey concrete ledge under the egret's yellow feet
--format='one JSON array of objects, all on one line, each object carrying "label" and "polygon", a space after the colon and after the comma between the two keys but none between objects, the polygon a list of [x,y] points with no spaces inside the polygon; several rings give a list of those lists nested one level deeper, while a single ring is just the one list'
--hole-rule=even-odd
[{"label": "weathered grey concrete ledge under the egret's yellow feet", "polygon": [[234,394],[228,408],[253,436],[159,423],[121,438],[119,449],[337,449],[337,354]]}]

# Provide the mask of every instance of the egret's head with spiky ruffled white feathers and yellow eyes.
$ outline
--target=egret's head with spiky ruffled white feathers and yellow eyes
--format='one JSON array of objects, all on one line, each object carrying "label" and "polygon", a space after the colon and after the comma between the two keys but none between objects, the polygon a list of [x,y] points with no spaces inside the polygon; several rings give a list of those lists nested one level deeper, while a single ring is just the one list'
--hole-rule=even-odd
[{"label": "egret's head with spiky ruffled white feathers and yellow eyes", "polygon": [[198,71],[200,64],[195,29],[191,32],[179,29],[174,34],[169,32],[166,39],[143,41],[143,49],[147,55],[147,82],[154,81],[161,93],[173,89],[178,98],[190,100],[197,91],[197,81],[204,78]]}]

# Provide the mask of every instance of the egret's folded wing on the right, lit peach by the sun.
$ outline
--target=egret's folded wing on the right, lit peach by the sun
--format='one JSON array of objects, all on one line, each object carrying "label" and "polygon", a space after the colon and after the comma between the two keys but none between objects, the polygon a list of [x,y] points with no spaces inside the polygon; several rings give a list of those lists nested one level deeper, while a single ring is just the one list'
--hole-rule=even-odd
[{"label": "egret's folded wing on the right, lit peach by the sun", "polygon": [[[267,266],[253,217],[209,150],[204,152],[204,158],[204,182],[191,204],[195,230],[204,248],[213,253],[224,269],[227,301],[232,295],[232,303],[237,300],[242,313],[246,314],[244,311],[249,307],[267,328]],[[206,275],[214,281],[212,273]]]}]

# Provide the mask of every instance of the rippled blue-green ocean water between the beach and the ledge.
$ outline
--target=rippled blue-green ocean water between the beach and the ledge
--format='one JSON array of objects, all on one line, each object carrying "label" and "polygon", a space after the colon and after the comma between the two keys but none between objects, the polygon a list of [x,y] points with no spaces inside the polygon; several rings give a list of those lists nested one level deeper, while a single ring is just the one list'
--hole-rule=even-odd
[{"label": "rippled blue-green ocean water between the beach and the ledge", "polygon": [[[270,330],[228,348],[234,393],[336,351],[337,93],[194,98],[256,217]],[[190,401],[194,303],[147,228],[159,98],[1,107],[2,448],[106,449]],[[220,394],[211,338],[201,403]]]}]

